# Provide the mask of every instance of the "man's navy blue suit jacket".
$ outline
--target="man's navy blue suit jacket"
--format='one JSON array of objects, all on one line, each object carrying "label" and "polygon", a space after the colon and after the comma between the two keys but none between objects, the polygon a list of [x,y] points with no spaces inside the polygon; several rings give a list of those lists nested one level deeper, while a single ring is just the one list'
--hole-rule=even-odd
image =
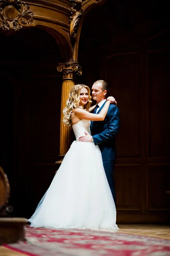
[{"label": "man's navy blue suit jacket", "polygon": [[[105,103],[106,102],[104,102],[104,104]],[[98,113],[104,107],[104,104],[101,106]],[[103,160],[116,159],[115,137],[118,134],[119,122],[119,109],[114,104],[109,105],[109,110],[104,121],[91,122],[91,134],[95,145],[99,145]]]}]

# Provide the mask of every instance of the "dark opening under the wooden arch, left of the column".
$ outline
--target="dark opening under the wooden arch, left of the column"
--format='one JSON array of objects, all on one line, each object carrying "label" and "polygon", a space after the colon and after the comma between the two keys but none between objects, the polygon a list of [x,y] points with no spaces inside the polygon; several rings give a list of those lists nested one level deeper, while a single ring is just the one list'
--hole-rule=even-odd
[{"label": "dark opening under the wooden arch, left of the column", "polygon": [[0,48],[5,49],[1,165],[9,177],[14,215],[29,217],[54,176],[59,155],[61,76],[56,66],[61,54],[52,35],[37,28],[0,34]]}]

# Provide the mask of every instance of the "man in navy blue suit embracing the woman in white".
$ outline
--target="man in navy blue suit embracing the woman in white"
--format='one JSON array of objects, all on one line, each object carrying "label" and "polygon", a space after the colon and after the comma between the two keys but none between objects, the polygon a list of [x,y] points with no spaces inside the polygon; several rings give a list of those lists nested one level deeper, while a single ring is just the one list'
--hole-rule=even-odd
[{"label": "man in navy blue suit embracing the woman in white", "polygon": [[[92,98],[97,103],[93,113],[99,113],[104,107],[108,90],[108,84],[103,80],[95,81],[95,83],[93,84]],[[113,199],[115,201],[115,206],[116,196],[113,172],[116,159],[115,137],[118,134],[119,122],[119,109],[114,104],[110,104],[104,121],[91,122],[90,129],[92,136],[84,135],[79,137],[79,141],[94,141],[95,145],[99,145],[103,159],[104,170],[112,192]]]}]

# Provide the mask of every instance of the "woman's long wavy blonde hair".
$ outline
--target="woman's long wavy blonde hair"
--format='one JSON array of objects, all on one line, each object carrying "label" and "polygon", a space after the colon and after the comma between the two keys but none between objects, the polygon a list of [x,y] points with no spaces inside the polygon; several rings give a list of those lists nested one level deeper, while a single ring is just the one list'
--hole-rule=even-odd
[{"label": "woman's long wavy blonde hair", "polygon": [[64,125],[66,126],[71,126],[72,122],[71,122],[71,115],[72,115],[72,111],[76,108],[82,108],[82,106],[79,105],[80,103],[80,91],[82,88],[86,88],[87,92],[89,94],[89,100],[86,103],[86,105],[84,106],[84,109],[86,109],[86,111],[89,111],[90,105],[92,103],[92,97],[90,96],[90,88],[88,86],[86,86],[85,84],[76,84],[72,87],[72,90],[69,93],[69,99],[66,102],[66,108],[64,108],[63,110],[63,114],[64,114],[64,118],[63,118],[63,122]]}]

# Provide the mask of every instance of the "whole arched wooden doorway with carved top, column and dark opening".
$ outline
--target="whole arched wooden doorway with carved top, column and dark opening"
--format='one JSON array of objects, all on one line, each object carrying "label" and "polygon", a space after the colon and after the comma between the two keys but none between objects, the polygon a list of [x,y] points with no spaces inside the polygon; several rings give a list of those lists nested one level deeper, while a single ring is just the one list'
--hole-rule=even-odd
[{"label": "whole arched wooden doorway with carved top, column and dark opening", "polygon": [[[0,35],[0,47],[4,49],[0,70],[3,84],[0,164],[9,176],[15,216],[30,216],[54,176],[55,161],[69,148],[70,132],[63,128],[60,119],[75,76],[81,75],[77,63],[81,26],[86,13],[104,2],[2,0],[0,3],[0,29],[10,35],[6,38]],[[61,62],[58,71],[63,74],[62,86],[56,72],[58,62]]]}]

